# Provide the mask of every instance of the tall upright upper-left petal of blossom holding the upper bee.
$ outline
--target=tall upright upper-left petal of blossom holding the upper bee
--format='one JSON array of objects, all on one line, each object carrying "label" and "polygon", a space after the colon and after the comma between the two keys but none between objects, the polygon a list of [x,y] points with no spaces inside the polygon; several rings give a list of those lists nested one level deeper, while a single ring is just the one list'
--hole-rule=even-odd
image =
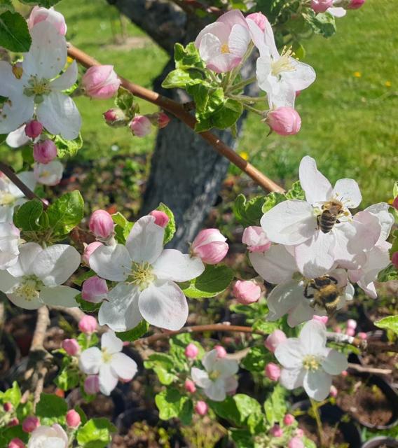
[{"label": "tall upright upper-left petal of blossom holding the upper bee", "polygon": [[306,193],[306,200],[310,204],[317,202],[324,202],[331,197],[331,183],[327,178],[317,169],[317,162],[306,155],[301,159],[299,168],[299,178],[301,188]]}]

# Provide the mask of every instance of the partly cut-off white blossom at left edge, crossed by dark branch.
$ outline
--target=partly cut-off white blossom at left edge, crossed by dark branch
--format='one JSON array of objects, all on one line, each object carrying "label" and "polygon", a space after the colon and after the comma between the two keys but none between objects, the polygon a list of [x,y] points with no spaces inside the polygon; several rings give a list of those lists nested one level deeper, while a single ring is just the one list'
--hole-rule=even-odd
[{"label": "partly cut-off white blossom at left edge, crossed by dark branch", "polygon": [[[36,181],[33,172],[22,172],[17,176],[30,190],[34,190]],[[0,172],[0,223],[12,222],[15,207],[26,201],[24,193]]]}]

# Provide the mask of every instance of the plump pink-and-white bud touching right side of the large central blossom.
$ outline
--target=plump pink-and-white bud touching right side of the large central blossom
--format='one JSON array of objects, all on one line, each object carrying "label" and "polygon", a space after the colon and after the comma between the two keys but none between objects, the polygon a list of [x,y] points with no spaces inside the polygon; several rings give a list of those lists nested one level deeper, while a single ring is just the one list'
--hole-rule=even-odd
[{"label": "plump pink-and-white bud touching right side of the large central blossom", "polygon": [[205,229],[198,233],[191,245],[191,253],[207,265],[216,265],[228,252],[226,237],[218,229]]}]

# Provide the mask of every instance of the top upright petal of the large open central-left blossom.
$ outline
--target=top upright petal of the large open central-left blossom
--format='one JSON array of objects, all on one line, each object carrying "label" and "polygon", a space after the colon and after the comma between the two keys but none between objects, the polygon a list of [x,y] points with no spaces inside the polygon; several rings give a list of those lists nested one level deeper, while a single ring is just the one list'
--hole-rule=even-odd
[{"label": "top upright petal of the large open central-left blossom", "polygon": [[165,229],[155,224],[153,216],[143,216],[133,225],[125,246],[133,261],[152,264],[163,251],[164,236]]}]

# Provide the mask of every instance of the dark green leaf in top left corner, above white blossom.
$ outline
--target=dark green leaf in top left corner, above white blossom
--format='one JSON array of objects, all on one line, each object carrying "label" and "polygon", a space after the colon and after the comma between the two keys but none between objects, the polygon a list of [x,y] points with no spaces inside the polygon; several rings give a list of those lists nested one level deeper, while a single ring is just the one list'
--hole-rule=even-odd
[{"label": "dark green leaf in top left corner, above white blossom", "polygon": [[29,51],[32,38],[26,20],[9,10],[0,15],[0,46],[10,51]]}]

